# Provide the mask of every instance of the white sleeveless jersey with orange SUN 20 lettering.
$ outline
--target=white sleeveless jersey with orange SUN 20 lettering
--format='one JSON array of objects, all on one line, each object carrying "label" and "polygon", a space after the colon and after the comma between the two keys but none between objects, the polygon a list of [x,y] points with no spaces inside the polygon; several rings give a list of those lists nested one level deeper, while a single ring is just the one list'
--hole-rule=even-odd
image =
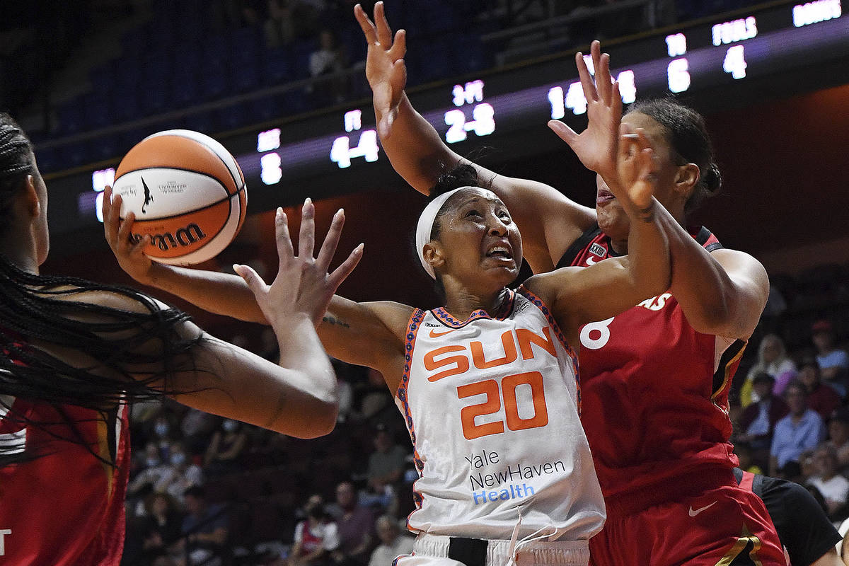
[{"label": "white sleeveless jersey with orange SUN 20 lettering", "polygon": [[396,393],[419,471],[410,530],[509,539],[520,512],[520,536],[599,532],[604,499],[576,364],[546,305],[524,288],[495,317],[413,312]]}]

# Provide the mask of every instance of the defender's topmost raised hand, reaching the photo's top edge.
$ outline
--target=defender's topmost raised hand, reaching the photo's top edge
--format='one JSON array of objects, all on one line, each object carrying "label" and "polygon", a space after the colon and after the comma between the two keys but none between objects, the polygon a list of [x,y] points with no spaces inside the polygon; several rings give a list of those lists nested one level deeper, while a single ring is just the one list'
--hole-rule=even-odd
[{"label": "defender's topmost raised hand, reaching the photo's top edge", "polygon": [[374,4],[374,22],[368,19],[363,7],[354,6],[354,16],[363,28],[368,42],[366,56],[366,79],[372,89],[374,110],[378,114],[378,134],[382,139],[389,137],[392,121],[398,113],[398,104],[407,84],[407,32],[396,31],[395,41],[386,20],[383,3]]}]

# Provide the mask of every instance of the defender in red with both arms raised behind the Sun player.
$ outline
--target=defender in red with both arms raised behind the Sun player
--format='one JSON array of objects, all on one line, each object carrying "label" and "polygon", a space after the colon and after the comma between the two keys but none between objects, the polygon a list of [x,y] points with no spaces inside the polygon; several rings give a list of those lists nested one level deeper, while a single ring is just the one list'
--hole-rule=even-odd
[{"label": "defender in red with both arms raised behind the Sun player", "polygon": [[[396,171],[428,193],[441,171],[466,163],[514,211],[534,272],[589,266],[633,250],[630,219],[613,190],[620,121],[644,128],[660,161],[657,199],[672,256],[672,287],[616,317],[582,328],[582,423],[605,496],[608,521],[593,538],[596,564],[784,564],[762,502],[739,490],[728,442],[728,387],[768,294],[767,274],[745,253],[722,249],[686,212],[720,186],[700,115],[671,100],[631,107],[621,118],[610,58],[593,42],[596,84],[576,56],[588,129],[549,126],[599,173],[596,210],[543,183],[469,164],[410,104],[403,88],[405,35],[393,36],[382,3],[376,25],[357,6],[368,41],[381,145]],[[597,85],[597,86],[596,86]],[[665,289],[666,290],[666,289]]]}]

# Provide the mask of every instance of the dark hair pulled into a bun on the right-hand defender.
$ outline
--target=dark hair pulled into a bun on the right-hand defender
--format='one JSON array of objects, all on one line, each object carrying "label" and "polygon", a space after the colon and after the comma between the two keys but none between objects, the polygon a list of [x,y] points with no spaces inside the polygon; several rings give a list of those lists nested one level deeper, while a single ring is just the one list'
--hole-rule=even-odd
[{"label": "dark hair pulled into a bun on the right-hand defender", "polygon": [[705,199],[719,193],[722,175],[714,160],[713,143],[705,119],[698,112],[674,98],[641,100],[631,104],[628,112],[647,115],[663,126],[678,165],[699,165],[699,182],[684,205],[686,212],[696,210]]}]

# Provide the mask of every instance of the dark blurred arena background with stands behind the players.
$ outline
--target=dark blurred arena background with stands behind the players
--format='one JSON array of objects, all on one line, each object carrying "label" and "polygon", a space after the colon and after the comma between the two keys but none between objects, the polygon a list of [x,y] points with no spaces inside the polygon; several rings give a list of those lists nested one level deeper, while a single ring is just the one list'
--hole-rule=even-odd
[{"label": "dark blurred arena background with stands behind the players", "polygon": [[[373,6],[363,3],[369,14]],[[766,470],[764,439],[745,434],[756,376],[807,378],[811,359],[849,345],[849,25],[840,1],[390,0],[386,13],[408,31],[413,106],[455,151],[584,205],[594,203],[594,176],[546,126],[586,124],[575,51],[602,40],[614,75],[632,87],[626,102],[674,94],[706,115],[724,190],[694,221],[755,255],[773,285],[733,395],[741,451]],[[340,255],[366,244],[340,294],[436,306],[410,244],[424,199],[374,139],[365,53],[347,0],[0,3],[0,108],[33,139],[51,188],[45,270],[132,284],[104,242],[98,195],[132,145],[188,128],[233,152],[250,195],[242,233],[201,267],[229,271],[238,261],[273,277],[273,208],[297,218],[311,196],[320,230],[346,209]],[[211,333],[276,356],[269,329],[153,294]],[[807,379],[812,392],[835,392],[817,394],[816,408],[845,449],[836,466],[849,473],[849,367],[820,375],[821,365]],[[413,508],[407,431],[380,375],[337,369],[340,424],[319,440],[176,404],[134,407],[125,563],[178,564],[192,552],[193,563],[283,563],[317,507],[344,533],[336,563],[365,564],[375,547],[402,544],[394,528]],[[821,473],[821,459],[803,458],[801,481]],[[187,495],[192,486],[200,489]],[[849,509],[829,513],[838,521]],[[188,531],[208,531],[211,543],[180,546]]]}]

